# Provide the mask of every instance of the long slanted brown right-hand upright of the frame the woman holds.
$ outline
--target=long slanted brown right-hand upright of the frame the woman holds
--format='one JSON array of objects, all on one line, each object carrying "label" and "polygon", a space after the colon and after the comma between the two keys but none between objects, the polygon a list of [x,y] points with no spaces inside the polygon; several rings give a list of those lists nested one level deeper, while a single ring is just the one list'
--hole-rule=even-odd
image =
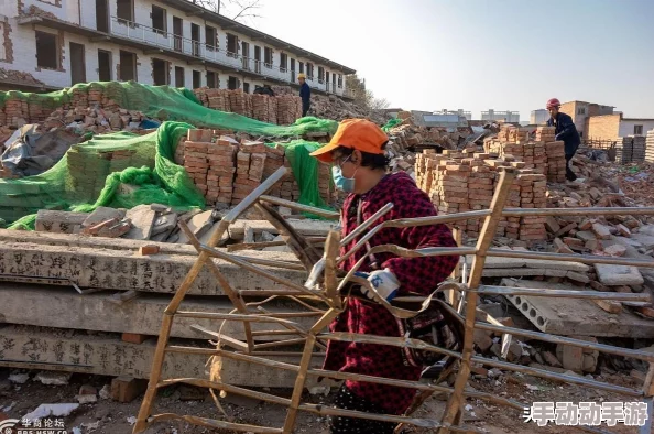
[{"label": "long slanted brown right-hand upright of the frame the woman holds", "polygon": [[[472,271],[468,281],[468,287],[476,290],[481,281],[481,273],[483,271],[483,264],[486,263],[486,252],[492,243],[493,237],[495,236],[498,224],[502,216],[502,208],[509,197],[509,192],[513,180],[515,178],[515,172],[510,169],[505,169],[500,173],[500,180],[498,181],[498,187],[493,195],[493,199],[490,205],[490,214],[483,221],[483,227],[477,241],[477,254],[472,262]],[[477,312],[478,295],[471,291],[466,292],[466,334],[464,338],[464,348],[461,351],[461,366],[459,373],[455,381],[455,391],[447,402],[447,408],[443,416],[444,426],[438,430],[438,434],[447,434],[450,432],[450,425],[455,422],[457,413],[460,412],[460,406],[464,397],[464,389],[470,377],[470,359],[472,358],[472,345],[475,334],[475,318]]]}]

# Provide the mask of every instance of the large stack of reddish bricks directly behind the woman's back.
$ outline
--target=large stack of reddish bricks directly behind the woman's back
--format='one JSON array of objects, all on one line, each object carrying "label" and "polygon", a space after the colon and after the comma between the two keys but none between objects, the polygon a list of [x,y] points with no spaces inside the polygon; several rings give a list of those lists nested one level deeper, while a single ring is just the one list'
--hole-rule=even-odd
[{"label": "large stack of reddish bricks directly behind the woman's back", "polygon": [[[510,160],[513,160],[510,158]],[[508,207],[545,208],[545,175],[525,169],[524,162],[493,159],[487,153],[425,151],[416,155],[416,182],[427,192],[440,214],[488,209],[499,178],[500,167],[515,167],[519,175],[506,203]],[[469,237],[478,237],[480,220],[459,223]],[[509,217],[498,225],[498,236],[524,241],[546,239],[545,218]]]}]

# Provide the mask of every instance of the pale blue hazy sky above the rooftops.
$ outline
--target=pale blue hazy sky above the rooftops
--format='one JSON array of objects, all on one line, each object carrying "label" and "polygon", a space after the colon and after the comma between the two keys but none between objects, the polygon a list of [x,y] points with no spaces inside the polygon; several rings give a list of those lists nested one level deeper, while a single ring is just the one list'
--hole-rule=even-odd
[{"label": "pale blue hazy sky above the rooftops", "polygon": [[262,0],[247,23],[358,70],[392,106],[654,118],[654,0]]}]

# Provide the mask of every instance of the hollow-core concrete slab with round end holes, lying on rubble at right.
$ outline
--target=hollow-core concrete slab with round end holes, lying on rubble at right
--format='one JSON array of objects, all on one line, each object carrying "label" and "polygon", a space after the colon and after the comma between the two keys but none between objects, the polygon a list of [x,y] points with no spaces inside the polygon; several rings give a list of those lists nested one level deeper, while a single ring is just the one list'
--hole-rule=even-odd
[{"label": "hollow-core concrete slab with round end holes, lying on rubble at right", "polygon": [[[502,285],[537,290],[584,290],[582,287],[539,281],[503,279]],[[506,299],[541,332],[555,335],[636,337],[654,336],[654,322],[626,310],[620,314],[602,311],[589,300],[509,295]]]}]

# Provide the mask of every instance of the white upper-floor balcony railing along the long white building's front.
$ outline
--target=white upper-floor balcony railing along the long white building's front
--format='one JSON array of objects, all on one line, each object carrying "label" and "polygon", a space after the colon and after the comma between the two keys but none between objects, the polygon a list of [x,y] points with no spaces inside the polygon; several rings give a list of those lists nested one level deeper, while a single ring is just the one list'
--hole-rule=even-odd
[{"label": "white upper-floor balcony railing along the long white building's front", "polygon": [[[170,32],[162,32],[159,29],[119,19],[118,17],[111,17],[109,31],[116,36],[176,51],[222,66],[252,72],[261,75],[261,78],[263,79],[272,78],[288,84],[295,83],[294,72],[287,68],[281,68],[274,64],[257,61],[252,57],[244,57],[238,53],[231,53],[226,50],[220,50],[217,46],[204,44],[200,41],[189,40]],[[314,80],[312,77],[308,77],[307,84],[314,89],[339,96],[350,96],[346,89],[333,86],[331,83],[319,83],[317,79]]]}]

